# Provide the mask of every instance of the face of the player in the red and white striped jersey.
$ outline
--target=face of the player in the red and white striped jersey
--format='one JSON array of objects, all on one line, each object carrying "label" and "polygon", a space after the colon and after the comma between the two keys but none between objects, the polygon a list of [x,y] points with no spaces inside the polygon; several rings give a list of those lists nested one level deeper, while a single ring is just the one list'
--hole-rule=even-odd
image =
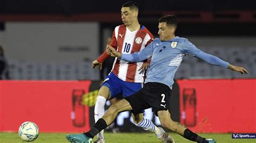
[{"label": "face of the player in the red and white striped jersey", "polygon": [[121,9],[121,17],[125,26],[130,26],[137,18],[138,12],[130,10],[128,7]]}]

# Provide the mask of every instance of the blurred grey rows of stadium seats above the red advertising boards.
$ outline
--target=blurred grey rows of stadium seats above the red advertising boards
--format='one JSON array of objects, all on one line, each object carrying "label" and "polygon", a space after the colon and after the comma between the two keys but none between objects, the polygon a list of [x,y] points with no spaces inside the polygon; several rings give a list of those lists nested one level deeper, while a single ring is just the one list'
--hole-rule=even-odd
[{"label": "blurred grey rows of stadium seats above the red advertising boards", "polygon": [[[186,56],[178,69],[178,78],[247,78],[256,77],[256,49],[228,47],[226,49],[211,47],[203,50],[248,69],[248,75],[234,73],[217,66],[211,66],[204,61]],[[232,55],[232,56],[231,56]],[[10,78],[12,80],[98,80],[99,70],[92,69],[91,61],[79,63],[66,61],[59,65],[54,62],[37,63],[33,61],[10,60]]]}]

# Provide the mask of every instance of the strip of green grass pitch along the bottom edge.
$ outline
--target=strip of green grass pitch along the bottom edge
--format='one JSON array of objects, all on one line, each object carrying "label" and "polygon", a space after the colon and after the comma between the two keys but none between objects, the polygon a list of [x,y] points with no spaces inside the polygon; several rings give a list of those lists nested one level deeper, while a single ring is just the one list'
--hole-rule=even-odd
[{"label": "strip of green grass pitch along the bottom edge", "polygon": [[[178,134],[169,133],[172,135],[176,143],[181,142],[192,142]],[[40,133],[39,137],[33,141],[36,142],[68,142],[65,138],[66,133]],[[231,134],[200,134],[205,138],[214,138],[217,142],[256,142],[256,139],[232,139]],[[106,138],[105,142],[160,142],[159,139],[152,133],[104,133]],[[96,138],[94,138],[95,140]],[[18,133],[6,133],[0,132],[0,143],[7,142],[25,142],[23,141]]]}]

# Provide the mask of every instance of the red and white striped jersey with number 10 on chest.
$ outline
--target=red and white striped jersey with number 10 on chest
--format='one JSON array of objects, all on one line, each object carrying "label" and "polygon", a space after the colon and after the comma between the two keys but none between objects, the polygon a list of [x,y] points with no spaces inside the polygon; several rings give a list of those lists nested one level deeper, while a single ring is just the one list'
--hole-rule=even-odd
[{"label": "red and white striped jersey with number 10 on chest", "polygon": [[[110,46],[116,48],[118,52],[123,54],[131,54],[144,49],[153,40],[153,35],[145,26],[140,26],[137,31],[130,31],[124,24],[114,28]],[[103,62],[109,55],[104,52],[98,59]],[[115,59],[113,63],[112,73],[121,80],[127,82],[144,82],[144,72],[138,71],[143,62],[131,63],[120,59]]]}]

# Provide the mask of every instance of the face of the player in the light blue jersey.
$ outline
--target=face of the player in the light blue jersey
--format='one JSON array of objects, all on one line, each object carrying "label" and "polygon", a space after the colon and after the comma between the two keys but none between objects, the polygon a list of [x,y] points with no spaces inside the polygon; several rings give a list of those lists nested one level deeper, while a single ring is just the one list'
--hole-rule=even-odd
[{"label": "face of the player in the light blue jersey", "polygon": [[174,27],[168,26],[166,23],[159,23],[158,24],[158,34],[159,38],[162,41],[170,40],[174,35]]}]

